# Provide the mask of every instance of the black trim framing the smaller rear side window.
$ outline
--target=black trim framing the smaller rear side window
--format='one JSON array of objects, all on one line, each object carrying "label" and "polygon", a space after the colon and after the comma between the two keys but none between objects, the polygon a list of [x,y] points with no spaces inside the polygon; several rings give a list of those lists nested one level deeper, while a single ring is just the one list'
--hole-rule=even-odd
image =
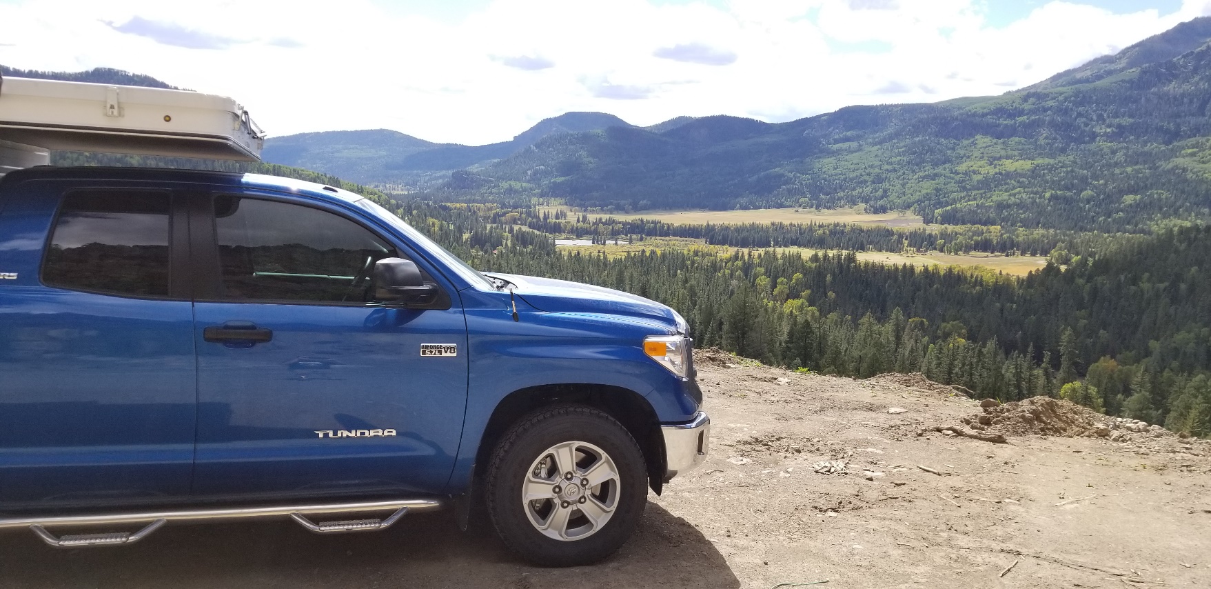
[{"label": "black trim framing the smaller rear side window", "polygon": [[[116,193],[116,194],[131,194],[131,193],[153,193],[162,194],[168,199],[168,294],[156,296],[156,294],[134,294],[128,292],[115,292],[115,291],[101,291],[92,288],[76,288],[65,285],[50,284],[46,281],[46,265],[50,261],[51,245],[54,242],[54,231],[59,227],[59,219],[63,217],[63,208],[67,205],[68,198],[79,193]],[[190,302],[193,301],[193,292],[190,288],[190,280],[188,279],[189,273],[189,231],[185,227],[182,227],[185,222],[185,211],[180,207],[180,199],[177,196],[177,191],[170,188],[155,188],[155,187],[79,187],[64,190],[59,195],[59,201],[54,206],[54,215],[51,217],[50,227],[46,230],[46,239],[42,244],[41,259],[38,263],[38,284],[44,288],[54,288],[59,291],[68,292],[84,292],[88,294],[101,294],[105,297],[116,298],[128,298],[133,301],[174,301],[174,302]],[[183,274],[184,271],[184,274]]]}]

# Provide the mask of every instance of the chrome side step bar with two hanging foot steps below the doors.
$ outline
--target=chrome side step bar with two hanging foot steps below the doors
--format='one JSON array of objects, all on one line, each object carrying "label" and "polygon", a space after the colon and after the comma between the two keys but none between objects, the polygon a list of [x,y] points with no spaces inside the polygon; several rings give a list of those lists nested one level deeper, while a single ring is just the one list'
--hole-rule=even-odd
[{"label": "chrome side step bar with two hanging foot steps below the doors", "polygon": [[[360,503],[331,503],[303,505],[270,505],[228,509],[191,509],[178,511],[145,511],[101,515],[65,515],[54,517],[0,517],[0,530],[28,527],[42,542],[57,548],[98,547],[130,544],[145,538],[170,521],[216,521],[231,519],[268,519],[289,516],[303,527],[316,533],[369,532],[385,530],[408,513],[436,511],[446,507],[446,501],[398,499]],[[351,514],[363,511],[394,513],[386,519],[362,519],[329,521],[315,524],[308,515]],[[122,524],[145,524],[138,532],[105,532],[54,536],[46,526],[109,526]]]}]

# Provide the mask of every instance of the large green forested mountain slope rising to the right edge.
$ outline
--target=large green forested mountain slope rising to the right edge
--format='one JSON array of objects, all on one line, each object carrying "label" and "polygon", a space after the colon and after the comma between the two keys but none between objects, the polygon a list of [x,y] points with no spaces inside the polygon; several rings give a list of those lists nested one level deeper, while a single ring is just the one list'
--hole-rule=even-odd
[{"label": "large green forested mountain slope rising to the right edge", "polygon": [[1147,231],[1211,221],[1211,18],[1001,96],[546,137],[436,200],[912,208],[930,223]]}]

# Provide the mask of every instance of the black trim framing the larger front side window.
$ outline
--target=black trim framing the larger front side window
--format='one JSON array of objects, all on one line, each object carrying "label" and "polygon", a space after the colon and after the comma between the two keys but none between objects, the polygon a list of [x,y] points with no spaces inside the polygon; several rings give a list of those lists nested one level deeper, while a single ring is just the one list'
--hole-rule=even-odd
[{"label": "black trim framing the larger front side window", "polygon": [[[367,223],[356,218],[354,215],[342,211],[335,207],[318,206],[316,202],[306,200],[297,200],[286,195],[266,194],[266,193],[252,193],[252,191],[239,191],[239,190],[206,190],[196,191],[190,195],[190,228],[193,241],[191,245],[196,246],[191,248],[194,256],[190,259],[190,267],[194,269],[191,273],[194,276],[194,302],[196,303],[223,303],[223,304],[283,304],[283,305],[311,305],[311,307],[349,307],[360,309],[415,309],[415,310],[447,310],[453,307],[453,301],[449,296],[449,287],[442,284],[442,280],[429,271],[426,265],[432,265],[423,256],[418,256],[413,247],[408,247],[406,242],[400,239],[391,239],[384,236],[381,230],[367,227]],[[231,196],[236,199],[254,199],[254,200],[268,200],[272,202],[282,202],[286,205],[302,206],[306,208],[314,208],[320,212],[328,215],[335,215],[337,217],[344,218],[350,223],[362,228],[368,231],[374,238],[379,239],[385,244],[390,244],[401,255],[408,256],[409,259],[417,262],[417,259],[424,261],[423,264],[418,264],[421,271],[437,285],[437,297],[429,304],[395,304],[395,303],[377,303],[377,302],[344,302],[344,301],[298,301],[298,299],[271,299],[271,298],[252,298],[252,299],[228,299],[222,298],[222,284],[223,284],[223,269],[219,263],[219,246],[218,246],[218,228],[216,225],[217,218],[214,217],[214,199],[218,196]],[[197,223],[194,222],[195,217],[202,216]],[[201,230],[199,230],[201,229]],[[444,275],[442,275],[444,279]]]}]

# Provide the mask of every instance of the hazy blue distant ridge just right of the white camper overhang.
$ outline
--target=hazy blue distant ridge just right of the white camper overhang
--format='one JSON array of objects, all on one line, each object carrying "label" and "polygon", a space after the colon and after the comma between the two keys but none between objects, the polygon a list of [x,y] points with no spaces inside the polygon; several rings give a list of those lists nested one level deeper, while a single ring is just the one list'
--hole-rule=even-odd
[{"label": "hazy blue distant ridge just right of the white camper overhang", "polygon": [[356,182],[417,181],[435,171],[450,171],[507,158],[552,135],[630,127],[606,113],[564,113],[539,121],[511,141],[487,145],[430,143],[395,131],[326,131],[271,137],[265,161],[318,170]]}]

